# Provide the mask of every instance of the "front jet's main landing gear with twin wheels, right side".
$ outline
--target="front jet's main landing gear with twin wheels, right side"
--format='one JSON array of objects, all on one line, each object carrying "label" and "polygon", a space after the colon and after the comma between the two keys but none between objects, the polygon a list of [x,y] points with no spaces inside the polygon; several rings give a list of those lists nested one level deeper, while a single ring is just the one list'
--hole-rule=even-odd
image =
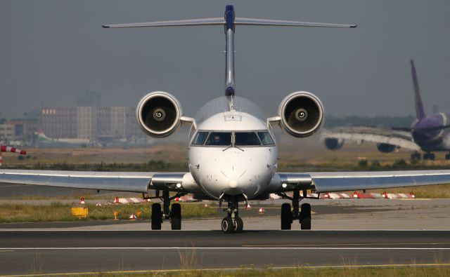
[{"label": "front jet's main landing gear with twin wheels, right side", "polygon": [[306,198],[307,191],[303,191],[303,197],[300,197],[300,191],[294,191],[293,197],[289,197],[284,193],[278,194],[283,198],[287,198],[293,203],[293,208],[290,208],[290,203],[283,203],[281,205],[281,230],[290,230],[294,220],[300,222],[302,230],[311,229],[311,205],[303,203],[299,209],[299,203],[303,198]]}]

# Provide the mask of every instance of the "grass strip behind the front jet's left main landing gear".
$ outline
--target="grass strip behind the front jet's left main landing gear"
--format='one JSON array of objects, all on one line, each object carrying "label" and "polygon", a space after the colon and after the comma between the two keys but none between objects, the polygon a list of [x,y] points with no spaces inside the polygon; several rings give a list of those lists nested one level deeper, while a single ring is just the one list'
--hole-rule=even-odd
[{"label": "grass strip behind the front jet's left main landing gear", "polygon": [[[208,217],[217,214],[217,209],[205,207],[203,204],[181,203],[183,218]],[[79,220],[108,220],[128,219],[131,214],[138,215],[139,219],[150,219],[151,203],[129,205],[86,205],[89,210],[88,217],[78,218],[72,215],[72,205],[52,202],[50,205],[1,204],[0,222],[70,222]]]}]

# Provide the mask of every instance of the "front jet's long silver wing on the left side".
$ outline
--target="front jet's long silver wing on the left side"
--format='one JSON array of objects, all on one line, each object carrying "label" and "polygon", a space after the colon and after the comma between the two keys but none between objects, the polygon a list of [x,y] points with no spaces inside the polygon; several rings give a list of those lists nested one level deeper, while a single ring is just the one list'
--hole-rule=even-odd
[{"label": "front jet's long silver wing on the left side", "polygon": [[186,173],[0,170],[0,183],[147,193],[148,189],[183,191],[176,184],[183,183],[185,175]]}]

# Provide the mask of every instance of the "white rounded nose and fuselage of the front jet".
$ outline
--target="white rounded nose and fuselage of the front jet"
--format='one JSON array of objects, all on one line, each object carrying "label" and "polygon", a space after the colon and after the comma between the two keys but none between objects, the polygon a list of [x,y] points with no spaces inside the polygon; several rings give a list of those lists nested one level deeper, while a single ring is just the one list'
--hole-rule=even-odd
[{"label": "white rounded nose and fuselage of the front jet", "polygon": [[[226,145],[193,144],[198,133],[231,133],[232,143]],[[269,133],[273,143],[238,145],[236,133],[261,135]],[[246,134],[246,133],[245,133]],[[244,134],[244,135],[245,135]],[[193,179],[200,189],[212,198],[222,194],[244,194],[248,199],[257,197],[269,186],[276,173],[278,149],[274,135],[266,122],[246,112],[219,112],[200,122],[189,141],[188,162]]]}]

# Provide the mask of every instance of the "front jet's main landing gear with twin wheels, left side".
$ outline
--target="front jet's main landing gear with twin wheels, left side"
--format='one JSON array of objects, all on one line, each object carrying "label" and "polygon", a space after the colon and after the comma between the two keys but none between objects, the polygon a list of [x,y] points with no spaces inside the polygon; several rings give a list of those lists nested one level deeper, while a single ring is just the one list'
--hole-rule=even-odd
[{"label": "front jet's main landing gear with twin wheels, left side", "polygon": [[[159,191],[157,191],[157,197],[158,195]],[[172,230],[181,230],[181,205],[179,203],[173,203],[172,207],[170,207],[170,201],[182,195],[184,194],[176,194],[176,196],[169,197],[169,191],[162,191],[162,210],[160,203],[152,204],[152,230],[160,230],[161,224],[165,219],[169,219]]]}]

